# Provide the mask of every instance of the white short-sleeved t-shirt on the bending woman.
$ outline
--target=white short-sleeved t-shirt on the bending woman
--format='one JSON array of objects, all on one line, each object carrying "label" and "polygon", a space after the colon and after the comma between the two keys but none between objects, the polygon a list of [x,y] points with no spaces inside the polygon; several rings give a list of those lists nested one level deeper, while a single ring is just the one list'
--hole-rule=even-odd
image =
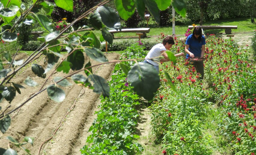
[{"label": "white short-sleeved t-shirt on the bending woman", "polygon": [[[149,62],[149,63],[151,63],[152,65],[158,66],[159,64],[158,64],[157,62],[154,62],[154,61],[148,60],[148,59],[154,58],[154,57],[157,57],[157,56],[160,56],[160,55],[161,55],[160,52],[161,52],[162,50],[166,50],[166,48],[163,46],[162,43],[156,44],[155,46],[153,46],[153,47],[151,48],[151,50],[148,52],[148,55],[145,57],[146,61]],[[161,58],[158,58],[158,59],[160,60]]]}]

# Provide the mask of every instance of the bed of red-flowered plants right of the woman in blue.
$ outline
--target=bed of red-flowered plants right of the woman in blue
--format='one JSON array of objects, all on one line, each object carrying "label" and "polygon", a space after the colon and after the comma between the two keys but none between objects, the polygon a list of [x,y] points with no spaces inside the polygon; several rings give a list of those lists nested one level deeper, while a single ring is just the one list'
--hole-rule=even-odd
[{"label": "bed of red-flowered plants right of the woman in blue", "polygon": [[[206,79],[219,103],[218,131],[225,135],[233,153],[256,153],[256,74],[248,49],[233,40],[208,40]],[[212,50],[210,50],[212,49]]]}]

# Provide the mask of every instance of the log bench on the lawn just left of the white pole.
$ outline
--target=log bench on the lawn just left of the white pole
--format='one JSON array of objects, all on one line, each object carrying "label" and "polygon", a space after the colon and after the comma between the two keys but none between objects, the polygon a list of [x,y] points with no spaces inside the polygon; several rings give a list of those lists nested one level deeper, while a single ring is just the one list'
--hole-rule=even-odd
[{"label": "log bench on the lawn just left of the white pole", "polygon": [[[136,29],[121,29],[120,30],[108,30],[111,35],[113,36],[114,38],[114,33],[122,33],[122,32],[134,32],[134,33],[138,33],[137,35],[139,35],[139,38],[143,38],[143,37],[146,37],[146,33],[149,33],[150,31],[150,28],[136,28]],[[142,33],[142,35],[140,34]]]}]

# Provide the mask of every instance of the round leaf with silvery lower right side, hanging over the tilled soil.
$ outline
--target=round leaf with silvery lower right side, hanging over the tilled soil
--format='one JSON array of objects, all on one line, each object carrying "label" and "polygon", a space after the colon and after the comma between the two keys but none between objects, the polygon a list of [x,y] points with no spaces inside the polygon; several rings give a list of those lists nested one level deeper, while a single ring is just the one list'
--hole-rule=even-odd
[{"label": "round leaf with silvery lower right side, hanging over the tilled soil", "polygon": [[47,93],[50,99],[56,102],[62,102],[65,99],[65,92],[56,87],[55,84],[51,84],[50,86],[47,87]]}]

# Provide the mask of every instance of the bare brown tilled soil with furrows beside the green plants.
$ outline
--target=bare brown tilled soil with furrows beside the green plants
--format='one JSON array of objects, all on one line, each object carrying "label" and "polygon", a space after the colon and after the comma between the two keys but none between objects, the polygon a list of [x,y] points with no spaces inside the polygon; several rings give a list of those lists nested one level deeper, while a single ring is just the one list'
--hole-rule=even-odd
[{"label": "bare brown tilled soil with furrows beside the green plants", "polygon": [[[22,59],[23,56],[18,55],[17,59],[18,57]],[[109,61],[119,59],[119,54],[117,53],[108,53],[106,56]],[[85,62],[87,61],[86,59]],[[45,67],[43,62],[44,60],[40,59],[37,60],[36,63]],[[91,61],[91,63],[94,65],[98,62]],[[114,64],[106,64],[100,67],[94,67],[93,72],[108,79],[111,76],[113,68]],[[84,72],[80,74],[84,74]],[[63,74],[62,72],[57,72],[53,77],[65,77],[66,75],[67,74]],[[18,76],[14,78],[14,82],[25,86],[23,81],[27,76],[30,76],[39,86],[44,82],[44,80],[32,73],[31,66],[21,71],[21,74],[18,74]],[[93,93],[93,90],[77,86],[70,79],[69,81],[73,84],[72,86],[62,87],[66,93],[66,99],[63,102],[56,103],[51,101],[47,96],[47,92],[44,91],[26,103],[21,108],[19,114],[12,119],[8,131],[4,135],[2,133],[0,134],[0,147],[7,147],[7,141],[5,141],[7,135],[12,135],[18,141],[22,141],[26,135],[35,138],[34,147],[30,147],[29,145],[26,147],[31,151],[31,154],[37,154],[41,143],[53,135],[67,111],[69,111],[70,107],[76,102],[75,107],[63,121],[56,135],[43,145],[41,154],[43,154],[43,150],[47,154],[79,154],[80,148],[78,148],[78,146],[83,146],[86,141],[86,139],[83,139],[83,130],[87,132],[94,120],[94,117],[91,115],[96,110],[96,105],[99,104],[99,95]],[[53,80],[51,82],[53,82]],[[23,89],[21,94],[17,94],[12,101],[12,107],[8,109],[9,111],[24,102],[30,94],[36,92],[38,89],[38,87],[25,87],[26,89]],[[9,103],[6,101],[1,103],[3,109],[8,105]],[[78,139],[79,137],[82,138]],[[72,149],[73,147],[75,148]],[[23,154],[23,152],[21,151],[19,154]]]}]

